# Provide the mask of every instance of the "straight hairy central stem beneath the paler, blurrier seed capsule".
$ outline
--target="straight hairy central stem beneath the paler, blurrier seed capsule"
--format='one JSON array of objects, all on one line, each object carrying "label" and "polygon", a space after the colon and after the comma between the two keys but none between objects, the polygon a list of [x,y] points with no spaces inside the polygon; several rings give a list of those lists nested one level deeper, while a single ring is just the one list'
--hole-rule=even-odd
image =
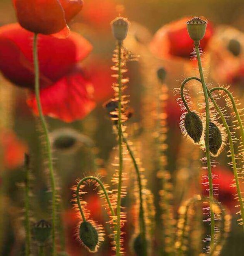
[{"label": "straight hairy central stem beneath the paler, blurrier seed capsule", "polygon": [[116,225],[116,256],[120,256],[120,212],[121,212],[121,190],[123,174],[123,148],[122,148],[122,122],[121,122],[121,98],[122,98],[122,72],[121,72],[121,49],[122,42],[118,42],[118,144],[119,144],[119,177],[118,177],[118,197],[117,197],[117,225]]}]

